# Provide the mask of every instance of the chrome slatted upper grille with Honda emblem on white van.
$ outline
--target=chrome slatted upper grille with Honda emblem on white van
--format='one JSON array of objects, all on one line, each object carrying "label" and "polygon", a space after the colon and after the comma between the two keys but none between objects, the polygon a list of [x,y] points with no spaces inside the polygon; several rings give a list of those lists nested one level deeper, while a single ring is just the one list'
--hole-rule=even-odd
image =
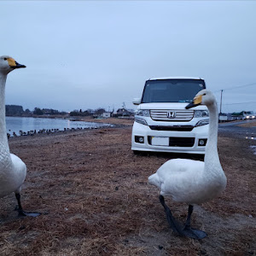
[{"label": "chrome slatted upper grille with Honda emblem on white van", "polygon": [[[173,117],[168,118],[167,114],[168,112],[175,113]],[[194,110],[173,110],[173,109],[154,109],[150,110],[150,116],[155,121],[190,121],[193,119],[194,116]]]}]

